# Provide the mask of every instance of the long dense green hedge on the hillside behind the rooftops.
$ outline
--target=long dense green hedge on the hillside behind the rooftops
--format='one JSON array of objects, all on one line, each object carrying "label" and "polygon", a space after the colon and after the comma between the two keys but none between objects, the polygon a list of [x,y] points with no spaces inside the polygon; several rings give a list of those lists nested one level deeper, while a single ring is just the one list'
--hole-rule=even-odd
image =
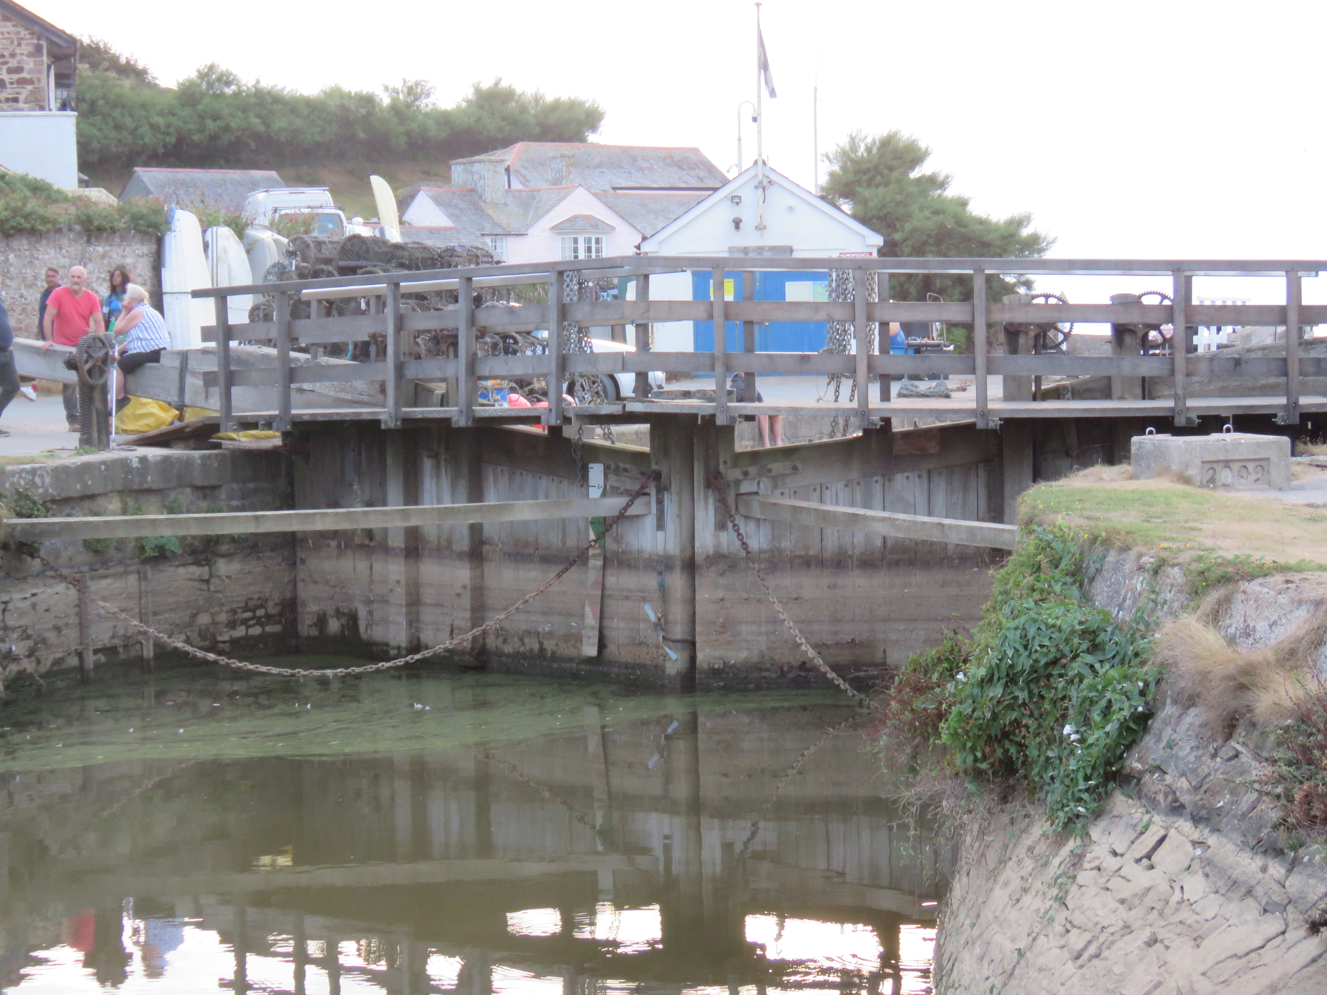
[{"label": "long dense green hedge on the hillside behind the rooftops", "polygon": [[80,46],[84,170],[133,166],[269,168],[283,162],[450,159],[519,141],[584,142],[604,121],[593,101],[475,84],[453,107],[402,80],[381,94],[330,86],[303,94],[247,82],[215,62],[175,88],[97,40]]}]

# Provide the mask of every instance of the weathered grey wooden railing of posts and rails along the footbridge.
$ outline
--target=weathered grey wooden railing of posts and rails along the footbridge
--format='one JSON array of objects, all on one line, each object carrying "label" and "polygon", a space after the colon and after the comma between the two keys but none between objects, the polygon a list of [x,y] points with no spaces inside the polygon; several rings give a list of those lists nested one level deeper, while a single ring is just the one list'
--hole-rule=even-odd
[{"label": "weathered grey wooden railing of posts and rails along the footbridge", "polygon": [[[548,383],[564,383],[576,374],[634,373],[634,394],[624,403],[577,409],[577,417],[612,418],[625,414],[648,414],[683,410],[713,413],[721,425],[736,415],[786,413],[796,409],[788,405],[731,403],[726,390],[717,390],[713,405],[698,409],[694,403],[675,405],[649,399],[646,375],[665,373],[713,373],[715,383],[725,386],[733,373],[744,374],[843,374],[852,377],[860,389],[852,406],[807,405],[808,414],[845,414],[861,423],[871,418],[913,413],[916,406],[890,401],[890,374],[962,374],[974,377],[973,401],[954,411],[970,410],[978,427],[990,427],[1001,417],[1028,417],[1051,414],[1051,407],[1064,414],[1135,415],[1169,414],[1177,425],[1193,423],[1196,414],[1205,411],[1266,411],[1286,423],[1298,423],[1300,410],[1327,410],[1327,398],[1300,398],[1300,378],[1327,375],[1327,358],[1300,358],[1300,336],[1286,338],[1285,357],[1222,357],[1204,353],[1205,375],[1285,378],[1283,398],[1214,398],[1202,402],[1189,398],[1186,381],[1196,354],[1190,350],[1192,332],[1198,325],[1271,325],[1303,329],[1327,322],[1327,306],[1304,306],[1300,302],[1300,277],[1316,276],[1327,269],[1327,261],[1314,260],[1046,260],[1046,259],[767,259],[767,257],[714,257],[714,256],[620,256],[616,259],[579,260],[540,264],[495,265],[467,269],[430,272],[376,273],[322,280],[300,280],[247,287],[206,288],[192,292],[194,297],[212,297],[216,302],[216,324],[203,329],[203,338],[218,349],[218,386],[220,387],[220,421],[230,427],[235,421],[231,389],[244,385],[276,385],[279,409],[271,421],[288,430],[293,418],[291,386],[293,383],[378,381],[385,383],[385,403],[381,418],[385,426],[399,427],[403,417],[446,417],[458,425],[474,425],[476,417],[502,414],[514,417],[522,409],[484,411],[476,405],[478,381],[492,378],[545,378]],[[587,279],[637,277],[637,300],[575,301],[563,300],[563,273],[575,271]],[[658,273],[709,271],[711,287],[723,287],[726,273],[752,271],[851,271],[853,300],[849,301],[758,301],[725,300],[714,295],[709,301],[654,300],[649,295],[649,277]],[[867,298],[867,273],[878,273],[881,297],[888,298],[888,276],[898,273],[962,273],[973,280],[971,301],[910,302],[871,301]],[[1170,279],[1173,304],[1039,304],[994,302],[986,300],[989,273],[1058,273],[1105,275],[1133,277],[1139,275],[1166,275]],[[1196,305],[1192,302],[1194,276],[1267,276],[1285,280],[1286,302],[1278,305]],[[750,287],[748,280],[739,281]],[[527,304],[510,308],[475,308],[471,304],[475,289],[484,287],[539,285],[548,288],[547,304]],[[460,304],[442,310],[402,312],[402,293],[456,291]],[[750,291],[746,292],[750,296]],[[230,324],[227,297],[232,295],[267,295],[275,300],[275,320],[265,322]],[[362,297],[370,301],[366,314],[348,317],[291,317],[291,304],[297,300],[312,302],[314,313],[322,302],[338,297]],[[710,353],[665,353],[649,350],[649,328],[670,321],[713,321],[715,329],[726,322],[740,322],[743,350],[726,349],[726,336],[715,334],[715,349]],[[755,325],[772,321],[841,321],[853,326],[855,352],[831,353],[770,353],[755,352]],[[888,352],[888,325],[896,321],[941,321],[973,328],[973,352],[969,354],[890,356]],[[993,324],[1044,325],[1048,322],[1109,322],[1113,325],[1172,325],[1185,329],[1173,336],[1173,342],[1186,348],[1172,349],[1170,356],[1116,354],[1083,357],[1064,354],[989,354],[987,329]],[[565,353],[564,325],[581,326],[633,325],[634,353]],[[868,350],[869,322],[880,322],[881,353]],[[476,356],[478,332],[533,332],[547,329],[547,353],[528,356]],[[413,333],[425,330],[455,330],[455,358],[414,360],[406,354]],[[364,341],[380,334],[385,338],[386,358],[378,362],[345,365],[304,365],[293,367],[291,349],[296,345]],[[232,370],[230,342],[245,341],[271,344],[277,361],[269,369]],[[877,345],[877,348],[880,348]],[[993,410],[987,394],[987,377],[1169,377],[1173,378],[1173,398],[1144,401],[1141,398],[1112,399],[1109,402],[1058,401],[1040,402],[1051,407],[1035,410],[1027,405],[1007,401]],[[406,390],[413,381],[446,379],[455,383],[455,395],[449,395],[447,407],[414,409],[405,403]],[[748,395],[754,395],[755,377],[748,377]],[[878,381],[876,391],[869,385]],[[871,394],[876,394],[872,399]],[[563,425],[565,413],[560,390],[549,390],[549,406],[537,417],[544,425]],[[1076,407],[1075,407],[1076,406]],[[407,410],[409,409],[409,410]],[[840,410],[841,409],[841,410]],[[800,410],[800,409],[798,409]],[[950,409],[946,409],[950,410]]]}]

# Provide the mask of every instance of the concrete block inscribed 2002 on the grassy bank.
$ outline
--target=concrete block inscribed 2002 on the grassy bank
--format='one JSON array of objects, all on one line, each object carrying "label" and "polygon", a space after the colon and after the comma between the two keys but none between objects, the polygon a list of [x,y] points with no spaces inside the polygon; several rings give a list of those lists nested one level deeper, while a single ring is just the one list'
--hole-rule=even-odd
[{"label": "concrete block inscribed 2002 on the grassy bank", "polygon": [[1135,435],[1131,462],[1137,480],[1180,474],[1214,491],[1290,487],[1290,439],[1283,435]]}]

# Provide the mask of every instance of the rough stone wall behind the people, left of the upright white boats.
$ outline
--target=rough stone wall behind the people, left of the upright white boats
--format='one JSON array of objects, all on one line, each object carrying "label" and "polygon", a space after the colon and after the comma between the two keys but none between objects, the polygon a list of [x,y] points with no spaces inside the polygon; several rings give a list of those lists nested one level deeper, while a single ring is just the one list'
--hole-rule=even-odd
[{"label": "rough stone wall behind the people, left of the upright white boats", "polygon": [[[0,92],[3,93],[3,92]],[[88,285],[105,300],[110,271],[127,268],[134,283],[161,304],[161,252],[155,235],[138,232],[85,232],[60,228],[42,235],[0,236],[0,298],[9,312],[17,336],[40,338],[37,302],[46,289],[46,267],[60,271],[61,283],[69,267],[88,271]]]}]

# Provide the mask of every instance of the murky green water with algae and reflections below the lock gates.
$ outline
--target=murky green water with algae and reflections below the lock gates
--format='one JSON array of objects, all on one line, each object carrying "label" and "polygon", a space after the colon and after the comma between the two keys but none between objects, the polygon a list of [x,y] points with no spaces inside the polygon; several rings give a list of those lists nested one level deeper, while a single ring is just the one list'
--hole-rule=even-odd
[{"label": "murky green water with algae and reflections below the lock gates", "polygon": [[190,669],[0,722],[5,992],[930,991],[949,854],[837,694]]}]

